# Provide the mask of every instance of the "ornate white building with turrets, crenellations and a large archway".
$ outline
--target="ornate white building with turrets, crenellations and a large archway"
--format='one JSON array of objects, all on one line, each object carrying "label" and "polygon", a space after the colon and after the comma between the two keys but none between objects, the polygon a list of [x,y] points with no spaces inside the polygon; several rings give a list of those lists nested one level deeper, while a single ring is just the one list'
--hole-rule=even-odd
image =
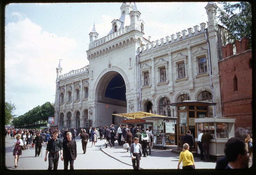
[{"label": "ornate white building with turrets, crenellations and a large archway", "polygon": [[[116,113],[151,112],[177,117],[171,103],[214,101],[209,111],[221,117],[218,60],[221,28],[214,3],[208,22],[150,41],[136,4],[123,3],[121,17],[107,36],[89,34],[89,65],[61,74],[57,68],[55,123],[62,127],[117,124]],[[203,9],[202,9],[203,10]]]}]

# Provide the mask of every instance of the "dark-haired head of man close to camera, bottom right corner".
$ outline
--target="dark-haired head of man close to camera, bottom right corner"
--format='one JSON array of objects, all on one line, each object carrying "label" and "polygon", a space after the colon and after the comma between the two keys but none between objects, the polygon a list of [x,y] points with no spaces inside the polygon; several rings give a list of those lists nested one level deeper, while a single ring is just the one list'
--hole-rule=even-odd
[{"label": "dark-haired head of man close to camera, bottom right corner", "polygon": [[228,159],[226,169],[249,168],[249,156],[248,151],[245,149],[244,140],[240,140],[237,137],[231,137],[225,144],[224,153]]}]

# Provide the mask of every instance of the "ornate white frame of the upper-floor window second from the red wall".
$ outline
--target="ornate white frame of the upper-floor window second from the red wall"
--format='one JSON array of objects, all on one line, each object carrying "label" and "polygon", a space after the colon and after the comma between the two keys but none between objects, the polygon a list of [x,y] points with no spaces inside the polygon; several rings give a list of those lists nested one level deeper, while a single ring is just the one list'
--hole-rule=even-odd
[{"label": "ornate white frame of the upper-floor window second from the red wall", "polygon": [[[187,68],[187,57],[185,55],[182,55],[181,53],[178,53],[177,56],[175,58],[173,58],[173,66],[175,69],[175,73],[174,76],[175,78],[175,83],[179,83],[179,82],[184,82],[188,80],[188,68]],[[185,77],[178,77],[179,76],[179,72],[178,72],[178,65],[180,63],[184,62],[185,64]]]}]

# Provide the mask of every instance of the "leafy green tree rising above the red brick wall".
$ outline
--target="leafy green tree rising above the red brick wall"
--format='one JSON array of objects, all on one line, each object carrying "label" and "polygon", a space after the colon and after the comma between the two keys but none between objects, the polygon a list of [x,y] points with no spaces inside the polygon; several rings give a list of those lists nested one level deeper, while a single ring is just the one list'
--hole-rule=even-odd
[{"label": "leafy green tree rising above the red brick wall", "polygon": [[228,3],[220,2],[218,8],[219,21],[228,28],[228,40],[235,42],[244,37],[249,38],[249,47],[252,46],[252,5],[249,2]]}]

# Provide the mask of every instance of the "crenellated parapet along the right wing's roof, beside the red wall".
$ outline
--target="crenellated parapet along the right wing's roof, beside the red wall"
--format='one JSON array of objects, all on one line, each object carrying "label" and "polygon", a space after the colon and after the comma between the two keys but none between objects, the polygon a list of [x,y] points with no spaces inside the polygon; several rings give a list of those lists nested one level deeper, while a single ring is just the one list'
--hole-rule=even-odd
[{"label": "crenellated parapet along the right wing's roof, beside the red wall", "polygon": [[186,38],[189,38],[191,36],[194,36],[199,33],[203,33],[206,29],[206,23],[201,23],[200,26],[196,25],[194,28],[188,28],[188,30],[183,30],[181,32],[178,32],[176,34],[172,34],[171,36],[166,36],[165,38],[162,38],[160,40],[152,41],[149,44],[146,44],[145,46],[142,46],[142,53],[147,52],[150,49],[155,49],[158,47],[162,47],[166,44],[174,43]]}]

